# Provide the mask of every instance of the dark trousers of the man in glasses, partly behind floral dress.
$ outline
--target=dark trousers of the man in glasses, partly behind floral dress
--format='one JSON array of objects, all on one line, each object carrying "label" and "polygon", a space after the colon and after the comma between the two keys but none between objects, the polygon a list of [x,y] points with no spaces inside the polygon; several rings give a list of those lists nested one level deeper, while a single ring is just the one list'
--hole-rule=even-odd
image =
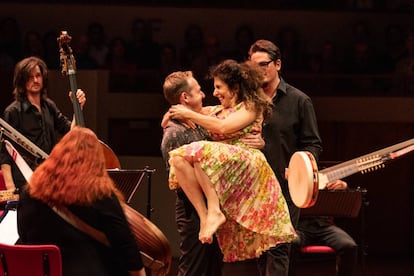
[{"label": "dark trousers of the man in glasses, partly behind floral dress", "polygon": [[[300,209],[292,201],[286,201],[290,219],[296,229],[299,221]],[[291,243],[278,244],[262,254],[258,260],[259,275],[261,276],[288,276]]]}]

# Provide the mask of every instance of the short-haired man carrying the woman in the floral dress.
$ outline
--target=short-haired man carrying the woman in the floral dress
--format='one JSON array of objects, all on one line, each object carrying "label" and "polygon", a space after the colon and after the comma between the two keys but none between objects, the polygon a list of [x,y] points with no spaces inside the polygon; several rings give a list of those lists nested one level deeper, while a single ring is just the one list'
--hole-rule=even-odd
[{"label": "short-haired man carrying the woman in the floral dress", "polygon": [[[205,95],[194,79],[192,72],[174,72],[168,75],[164,85],[165,99],[171,104],[182,104],[196,112],[202,109]],[[169,120],[164,128],[161,152],[167,171],[168,152],[193,141],[208,139],[208,133],[196,126],[188,128],[176,120]],[[175,211],[177,230],[180,235],[179,276],[220,276],[223,255],[214,237],[213,243],[202,244],[198,239],[200,219],[186,195],[177,187],[170,187],[177,193]]]}]

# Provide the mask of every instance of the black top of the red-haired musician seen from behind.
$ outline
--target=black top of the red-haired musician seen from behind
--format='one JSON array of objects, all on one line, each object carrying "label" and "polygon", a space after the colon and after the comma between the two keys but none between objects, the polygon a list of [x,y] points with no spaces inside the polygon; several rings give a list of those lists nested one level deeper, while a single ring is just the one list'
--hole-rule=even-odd
[{"label": "black top of the red-haired musician seen from behind", "polygon": [[75,215],[104,232],[111,247],[99,243],[22,190],[17,225],[22,244],[55,244],[62,254],[63,275],[128,275],[143,267],[139,248],[115,196],[92,206],[69,206]]}]

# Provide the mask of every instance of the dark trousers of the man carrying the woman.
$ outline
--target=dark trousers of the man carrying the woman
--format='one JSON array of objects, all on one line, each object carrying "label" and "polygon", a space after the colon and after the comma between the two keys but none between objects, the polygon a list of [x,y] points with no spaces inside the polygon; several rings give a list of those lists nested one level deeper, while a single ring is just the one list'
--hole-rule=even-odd
[{"label": "dark trousers of the man carrying the woman", "polygon": [[180,235],[179,276],[220,276],[223,264],[217,239],[202,244],[198,239],[200,219],[185,194],[177,191],[175,204],[177,230]]}]

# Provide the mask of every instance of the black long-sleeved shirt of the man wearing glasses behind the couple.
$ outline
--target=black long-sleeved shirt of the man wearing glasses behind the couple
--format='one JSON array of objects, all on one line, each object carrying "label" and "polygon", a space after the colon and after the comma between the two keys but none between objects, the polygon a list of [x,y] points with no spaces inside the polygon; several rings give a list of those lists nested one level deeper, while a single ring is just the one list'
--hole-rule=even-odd
[{"label": "black long-sleeved shirt of the man wearing glasses behind the couple", "polygon": [[263,152],[290,200],[285,168],[295,151],[310,151],[318,160],[322,152],[316,114],[309,96],[280,79],[273,98],[273,113],[263,126]]}]

